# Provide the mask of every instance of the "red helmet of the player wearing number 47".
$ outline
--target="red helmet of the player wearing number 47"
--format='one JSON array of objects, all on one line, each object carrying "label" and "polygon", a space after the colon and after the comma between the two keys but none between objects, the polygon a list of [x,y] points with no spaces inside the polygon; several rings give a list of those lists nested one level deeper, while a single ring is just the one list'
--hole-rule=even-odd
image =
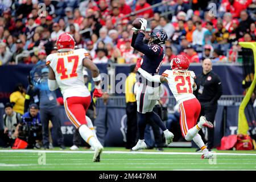
[{"label": "red helmet of the player wearing number 47", "polygon": [[75,48],[75,39],[72,35],[68,33],[60,34],[59,38],[57,39],[56,46],[57,49],[74,49]]}]

